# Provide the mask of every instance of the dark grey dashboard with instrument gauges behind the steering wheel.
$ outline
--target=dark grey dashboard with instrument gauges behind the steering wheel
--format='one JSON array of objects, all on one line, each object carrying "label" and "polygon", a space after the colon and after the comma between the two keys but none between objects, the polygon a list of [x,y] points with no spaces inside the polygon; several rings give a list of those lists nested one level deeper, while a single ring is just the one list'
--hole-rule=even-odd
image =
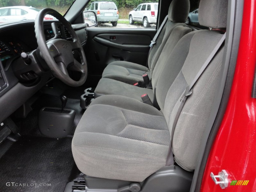
[{"label": "dark grey dashboard with instrument gauges behind the steering wheel", "polygon": [[[51,23],[44,21],[46,41],[54,34]],[[72,41],[67,29],[56,22],[59,38]],[[72,25],[82,46],[87,42],[86,24]],[[26,63],[20,54],[25,52],[34,61]],[[77,57],[73,51],[74,58]],[[79,57],[79,55],[78,55]],[[0,122],[14,113],[30,97],[53,78],[46,62],[40,57],[34,21],[0,25]]]}]

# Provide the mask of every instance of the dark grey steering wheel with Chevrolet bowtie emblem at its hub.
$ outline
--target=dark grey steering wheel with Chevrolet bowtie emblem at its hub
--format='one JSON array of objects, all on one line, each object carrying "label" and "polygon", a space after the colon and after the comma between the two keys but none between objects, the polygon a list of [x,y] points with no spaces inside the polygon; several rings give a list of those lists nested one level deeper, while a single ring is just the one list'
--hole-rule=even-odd
[{"label": "dark grey steering wheel with Chevrolet bowtie emblem at its hub", "polygon": [[[52,39],[46,42],[43,26],[46,14],[56,17],[69,31],[73,41]],[[62,82],[72,87],[78,87],[84,84],[88,74],[86,57],[81,42],[71,24],[56,10],[45,8],[40,10],[36,17],[35,33],[40,55],[46,61],[52,74]],[[55,37],[56,36],[57,34],[55,34]],[[73,57],[73,50],[77,50],[79,52],[81,63]],[[75,81],[71,79],[67,69],[81,72],[80,80]]]}]

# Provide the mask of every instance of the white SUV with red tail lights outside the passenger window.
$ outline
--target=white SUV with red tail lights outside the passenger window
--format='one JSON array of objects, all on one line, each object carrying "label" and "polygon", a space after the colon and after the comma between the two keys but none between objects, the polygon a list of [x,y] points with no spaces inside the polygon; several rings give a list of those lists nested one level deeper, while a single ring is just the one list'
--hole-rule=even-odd
[{"label": "white SUV with red tail lights outside the passenger window", "polygon": [[150,24],[156,23],[158,3],[142,3],[136,9],[129,13],[129,23],[142,22],[143,26],[149,27]]}]

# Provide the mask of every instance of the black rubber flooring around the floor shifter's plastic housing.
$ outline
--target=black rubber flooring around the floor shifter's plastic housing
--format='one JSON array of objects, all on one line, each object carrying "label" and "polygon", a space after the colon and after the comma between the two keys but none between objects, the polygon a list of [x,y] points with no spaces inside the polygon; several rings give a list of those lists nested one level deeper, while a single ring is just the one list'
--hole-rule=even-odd
[{"label": "black rubber flooring around the floor shifter's plastic housing", "polygon": [[[20,122],[18,126],[20,127],[21,135],[36,136],[36,137],[45,137],[38,127],[38,113],[39,110],[43,107],[59,107],[61,108],[60,98],[54,95],[43,94],[40,99],[38,99],[33,104],[33,111],[31,111],[25,120]],[[78,99],[68,99],[66,104],[66,109],[73,109],[76,111],[76,116],[74,119],[74,124],[71,132],[68,136],[73,136],[76,130],[77,124],[79,123],[84,110],[80,107],[80,100]]]}]

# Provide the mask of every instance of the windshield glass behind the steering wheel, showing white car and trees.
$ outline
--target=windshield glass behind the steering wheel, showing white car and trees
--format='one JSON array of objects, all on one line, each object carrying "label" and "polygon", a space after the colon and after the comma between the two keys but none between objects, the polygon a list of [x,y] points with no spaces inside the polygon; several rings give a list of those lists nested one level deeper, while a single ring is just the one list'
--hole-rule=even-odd
[{"label": "windshield glass behind the steering wheel, showing white car and trees", "polygon": [[[0,23],[35,20],[43,8],[52,8],[64,15],[74,0],[0,0]],[[46,15],[45,20],[55,20]]]}]

